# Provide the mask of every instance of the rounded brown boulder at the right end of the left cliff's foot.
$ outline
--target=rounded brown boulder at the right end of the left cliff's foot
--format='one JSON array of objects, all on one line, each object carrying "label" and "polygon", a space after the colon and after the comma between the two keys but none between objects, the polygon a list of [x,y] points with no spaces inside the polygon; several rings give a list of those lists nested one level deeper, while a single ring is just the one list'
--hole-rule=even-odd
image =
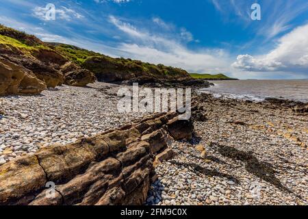
[{"label": "rounded brown boulder at the right end of the left cliff's foot", "polygon": [[69,86],[84,87],[88,83],[94,83],[97,78],[90,70],[77,66],[73,62],[68,62],[61,67],[61,73],[64,75],[64,84]]}]

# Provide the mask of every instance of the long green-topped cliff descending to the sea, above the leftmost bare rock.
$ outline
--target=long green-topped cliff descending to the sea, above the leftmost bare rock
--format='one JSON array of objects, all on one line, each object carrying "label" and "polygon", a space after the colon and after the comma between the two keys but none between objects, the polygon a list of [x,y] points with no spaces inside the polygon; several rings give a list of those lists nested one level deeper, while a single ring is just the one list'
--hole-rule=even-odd
[{"label": "long green-topped cliff descending to the sea, above the leftmost bare rock", "polygon": [[31,71],[47,88],[62,84],[86,86],[96,80],[129,85],[136,82],[149,86],[209,86],[207,81],[193,79],[181,68],[113,58],[68,44],[42,42],[36,36],[3,25],[0,25],[0,54],[1,59]]}]

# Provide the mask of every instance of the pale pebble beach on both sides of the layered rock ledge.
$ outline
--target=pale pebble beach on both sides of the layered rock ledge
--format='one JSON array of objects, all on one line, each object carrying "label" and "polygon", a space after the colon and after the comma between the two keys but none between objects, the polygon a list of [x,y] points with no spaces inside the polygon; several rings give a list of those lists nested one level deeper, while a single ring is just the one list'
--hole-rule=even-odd
[{"label": "pale pebble beach on both sides of the layered rock ledge", "polygon": [[[1,97],[0,164],[146,116],[118,114],[120,87],[94,83]],[[276,103],[193,95],[194,138],[168,143],[176,155],[155,166],[147,205],[307,205],[307,114]],[[253,185],[261,188],[259,198]]]}]

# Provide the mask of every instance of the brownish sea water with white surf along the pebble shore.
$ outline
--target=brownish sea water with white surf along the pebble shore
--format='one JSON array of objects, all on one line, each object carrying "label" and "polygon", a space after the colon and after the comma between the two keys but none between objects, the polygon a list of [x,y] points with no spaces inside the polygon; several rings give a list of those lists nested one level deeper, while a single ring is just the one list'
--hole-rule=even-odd
[{"label": "brownish sea water with white surf along the pebble shore", "polygon": [[308,79],[302,80],[240,80],[210,81],[215,86],[201,92],[235,99],[264,101],[275,97],[308,103]]}]

